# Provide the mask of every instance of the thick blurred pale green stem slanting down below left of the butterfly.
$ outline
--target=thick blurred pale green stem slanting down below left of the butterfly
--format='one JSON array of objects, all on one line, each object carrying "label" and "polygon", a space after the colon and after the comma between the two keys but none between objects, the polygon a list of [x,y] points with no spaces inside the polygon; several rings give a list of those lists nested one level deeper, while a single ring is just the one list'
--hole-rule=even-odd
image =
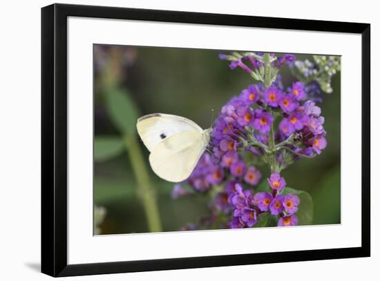
[{"label": "thick blurred pale green stem slanting down below left of the butterfly", "polygon": [[149,173],[146,169],[140,145],[134,135],[124,135],[124,145],[126,146],[129,158],[131,159],[133,173],[137,180],[137,194],[144,205],[149,231],[160,232],[162,231],[162,227],[158,204],[155,197],[155,190],[149,180]]}]

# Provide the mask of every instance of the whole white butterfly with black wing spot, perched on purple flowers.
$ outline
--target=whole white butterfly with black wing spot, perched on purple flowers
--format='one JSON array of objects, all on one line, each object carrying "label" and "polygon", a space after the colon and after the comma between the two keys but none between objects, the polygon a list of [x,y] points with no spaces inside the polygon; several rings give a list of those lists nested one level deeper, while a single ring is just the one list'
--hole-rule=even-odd
[{"label": "whole white butterfly with black wing spot, perched on purple flowers", "polygon": [[137,132],[151,152],[154,173],[168,182],[182,182],[205,152],[211,129],[184,117],[153,113],[137,119]]}]

